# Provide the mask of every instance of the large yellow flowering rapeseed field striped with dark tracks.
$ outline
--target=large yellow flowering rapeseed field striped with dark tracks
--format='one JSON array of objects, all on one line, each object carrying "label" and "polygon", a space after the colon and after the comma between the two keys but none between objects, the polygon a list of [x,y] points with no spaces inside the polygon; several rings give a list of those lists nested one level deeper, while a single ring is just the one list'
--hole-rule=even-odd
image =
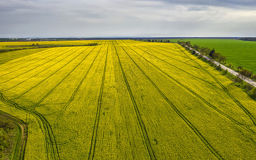
[{"label": "large yellow flowering rapeseed field striped with dark tracks", "polygon": [[178,44],[90,43],[0,54],[25,159],[256,157],[256,102],[219,71]]}]

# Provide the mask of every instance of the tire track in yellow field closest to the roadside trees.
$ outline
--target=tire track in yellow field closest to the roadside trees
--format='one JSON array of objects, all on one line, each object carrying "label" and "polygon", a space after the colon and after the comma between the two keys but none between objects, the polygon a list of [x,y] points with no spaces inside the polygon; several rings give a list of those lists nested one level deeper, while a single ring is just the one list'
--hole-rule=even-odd
[{"label": "tire track in yellow field closest to the roadside trees", "polygon": [[[175,44],[176,45],[176,44]],[[179,48],[180,51],[182,51],[180,48]],[[184,51],[182,51],[183,54]],[[189,57],[187,54],[185,54],[187,57]],[[189,57],[190,58],[190,57]],[[192,58],[190,58],[194,63],[196,63],[201,69],[203,69],[205,71],[206,74],[208,74],[210,77],[212,77],[214,79],[214,81],[219,84],[222,89],[229,95],[229,97],[237,104],[237,106],[239,106],[243,111],[244,113],[249,116],[249,118],[252,120],[254,126],[256,126],[256,119],[254,118],[254,116],[250,113],[249,110],[247,110],[243,105],[242,103],[236,99],[234,97],[234,95],[232,95],[232,93],[229,91],[229,89],[224,85],[222,84],[217,78],[215,78],[207,69],[205,69],[204,67],[202,67],[199,63],[195,62]]]}]

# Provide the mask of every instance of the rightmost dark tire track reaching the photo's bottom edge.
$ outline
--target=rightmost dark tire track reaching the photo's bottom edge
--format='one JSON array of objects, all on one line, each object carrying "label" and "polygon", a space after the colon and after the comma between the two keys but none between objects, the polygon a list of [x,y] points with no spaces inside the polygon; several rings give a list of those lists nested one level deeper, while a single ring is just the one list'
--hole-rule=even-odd
[{"label": "rightmost dark tire track reaching the photo's bottom edge", "polygon": [[[121,46],[122,47],[122,46]],[[122,47],[123,49],[123,47]],[[124,49],[123,49],[124,50]],[[124,50],[124,52],[128,55],[128,57],[132,60],[134,65],[141,71],[141,73],[148,79],[148,81],[155,87],[157,92],[161,94],[161,96],[164,98],[164,100],[169,103],[172,109],[175,110],[175,112],[179,115],[180,118],[183,119],[183,121],[189,125],[189,127],[194,131],[195,134],[198,135],[200,140],[205,143],[205,146],[212,152],[213,155],[215,155],[219,159],[223,159],[219,153],[210,145],[210,143],[204,138],[204,136],[199,132],[199,130],[187,119],[177,108],[176,106],[163,94],[163,92],[155,85],[155,83],[145,74],[145,72],[135,63],[135,61],[130,57],[130,55]]]}]

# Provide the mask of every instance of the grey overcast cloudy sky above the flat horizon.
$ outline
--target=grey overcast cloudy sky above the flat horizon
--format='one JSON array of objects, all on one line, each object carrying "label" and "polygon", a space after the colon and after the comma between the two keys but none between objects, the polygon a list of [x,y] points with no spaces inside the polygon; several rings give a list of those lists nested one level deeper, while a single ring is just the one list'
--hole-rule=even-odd
[{"label": "grey overcast cloudy sky above the flat horizon", "polygon": [[0,37],[256,36],[255,0],[1,0]]}]

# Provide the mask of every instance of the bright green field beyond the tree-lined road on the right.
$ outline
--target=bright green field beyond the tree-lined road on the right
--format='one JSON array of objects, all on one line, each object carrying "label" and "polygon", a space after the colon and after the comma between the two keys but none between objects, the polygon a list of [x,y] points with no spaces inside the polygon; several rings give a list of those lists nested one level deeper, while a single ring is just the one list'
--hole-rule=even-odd
[{"label": "bright green field beyond the tree-lined road on the right", "polygon": [[[170,39],[177,42],[179,39]],[[190,41],[192,45],[208,47],[220,52],[227,57],[227,64],[233,66],[243,66],[256,74],[256,42],[242,41],[238,39],[209,39],[209,38],[187,38],[179,41]]]}]

